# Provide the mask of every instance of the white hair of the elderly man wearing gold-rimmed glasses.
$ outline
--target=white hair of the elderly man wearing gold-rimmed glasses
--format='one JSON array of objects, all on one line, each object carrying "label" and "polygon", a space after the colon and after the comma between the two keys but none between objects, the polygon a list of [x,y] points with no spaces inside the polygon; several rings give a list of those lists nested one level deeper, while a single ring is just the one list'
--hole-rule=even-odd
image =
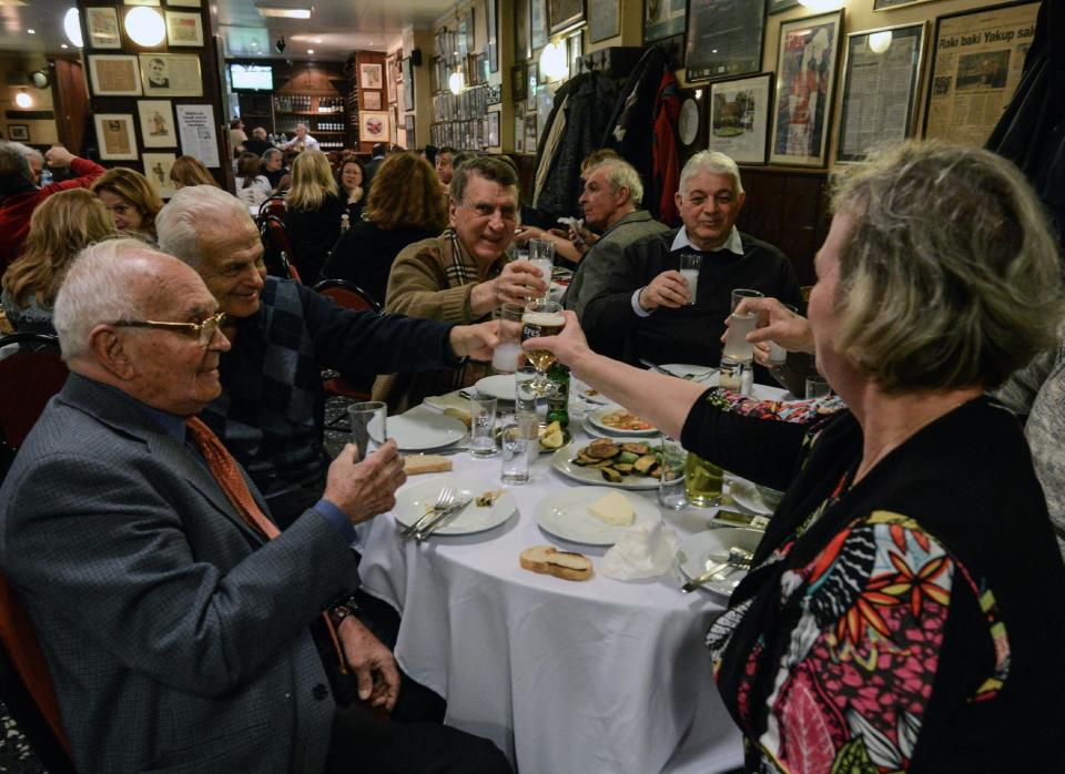
[{"label": "white hair of the elderly man wearing gold-rimmed glasses", "polygon": [[136,298],[135,283],[130,282],[135,273],[131,262],[154,252],[140,240],[122,238],[90,245],[78,254],[52,313],[64,360],[89,350],[89,335],[98,325],[142,317],[145,299]]}]

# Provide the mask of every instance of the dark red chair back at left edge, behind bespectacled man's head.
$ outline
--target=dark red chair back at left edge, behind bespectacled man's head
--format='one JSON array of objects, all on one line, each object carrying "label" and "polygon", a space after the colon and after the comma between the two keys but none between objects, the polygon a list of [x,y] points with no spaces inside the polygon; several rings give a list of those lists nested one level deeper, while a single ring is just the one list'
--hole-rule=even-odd
[{"label": "dark red chair back at left edge, behind bespectacled man's head", "polygon": [[0,352],[10,345],[18,348],[0,360],[0,432],[18,449],[70,371],[55,336],[16,333],[0,338]]}]

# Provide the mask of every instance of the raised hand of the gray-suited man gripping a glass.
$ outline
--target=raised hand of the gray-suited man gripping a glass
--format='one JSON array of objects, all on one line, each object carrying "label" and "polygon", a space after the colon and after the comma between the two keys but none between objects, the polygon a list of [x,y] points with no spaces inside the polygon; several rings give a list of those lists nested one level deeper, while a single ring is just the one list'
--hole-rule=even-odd
[{"label": "raised hand of the gray-suited man gripping a glass", "polygon": [[396,489],[407,480],[395,440],[387,440],[362,462],[346,444],[329,466],[322,498],[339,508],[353,525],[367,521],[396,505]]}]

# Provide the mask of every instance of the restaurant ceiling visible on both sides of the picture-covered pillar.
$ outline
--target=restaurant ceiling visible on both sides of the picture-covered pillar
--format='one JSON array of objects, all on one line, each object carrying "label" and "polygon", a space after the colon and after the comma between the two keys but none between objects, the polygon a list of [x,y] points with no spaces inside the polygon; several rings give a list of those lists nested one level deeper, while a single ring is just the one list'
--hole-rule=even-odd
[{"label": "restaurant ceiling visible on both sides of the picture-covered pillar", "polygon": [[[207,0],[211,1],[211,0]],[[387,51],[404,27],[428,29],[455,0],[215,0],[227,57],[344,60],[354,50]],[[63,53],[63,14],[73,0],[0,0],[0,51]],[[310,19],[264,18],[257,7],[312,8]],[[34,32],[31,34],[29,30]],[[314,53],[307,53],[313,50]],[[72,52],[70,45],[67,52]]]}]

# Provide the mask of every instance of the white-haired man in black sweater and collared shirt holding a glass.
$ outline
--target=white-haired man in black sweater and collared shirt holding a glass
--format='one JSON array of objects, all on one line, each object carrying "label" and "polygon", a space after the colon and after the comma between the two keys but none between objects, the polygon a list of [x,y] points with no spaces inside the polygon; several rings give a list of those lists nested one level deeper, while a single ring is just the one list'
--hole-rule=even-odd
[{"label": "white-haired man in black sweater and collared shirt holding a glass", "polygon": [[[692,156],[674,198],[683,225],[630,244],[585,305],[581,326],[597,352],[632,364],[716,366],[732,291],[760,291],[798,307],[799,283],[783,253],[736,227],[747,195],[729,156],[716,151]],[[701,258],[694,293],[679,272],[682,255]]]}]

